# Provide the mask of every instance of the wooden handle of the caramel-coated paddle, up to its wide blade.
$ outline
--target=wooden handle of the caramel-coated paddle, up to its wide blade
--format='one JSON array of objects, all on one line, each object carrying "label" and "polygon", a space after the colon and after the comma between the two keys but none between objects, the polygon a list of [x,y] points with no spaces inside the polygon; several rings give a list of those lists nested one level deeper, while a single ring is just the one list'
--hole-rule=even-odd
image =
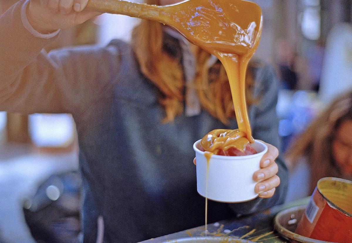
[{"label": "wooden handle of the caramel-coated paddle, up to its wide blade", "polygon": [[123,0],[89,0],[87,8],[96,12],[122,14],[140,19],[155,20],[164,24],[169,19],[169,14],[164,12],[165,7]]}]

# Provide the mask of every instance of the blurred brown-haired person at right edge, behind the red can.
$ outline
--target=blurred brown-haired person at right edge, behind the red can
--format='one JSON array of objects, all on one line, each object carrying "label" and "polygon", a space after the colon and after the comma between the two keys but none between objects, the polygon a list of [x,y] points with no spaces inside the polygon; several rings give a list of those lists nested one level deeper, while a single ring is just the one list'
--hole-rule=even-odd
[{"label": "blurred brown-haired person at right edge, behind the red can", "polygon": [[336,98],[321,112],[297,136],[285,158],[291,172],[301,163],[308,165],[309,185],[306,195],[300,188],[302,197],[311,195],[323,177],[352,180],[352,91]]}]

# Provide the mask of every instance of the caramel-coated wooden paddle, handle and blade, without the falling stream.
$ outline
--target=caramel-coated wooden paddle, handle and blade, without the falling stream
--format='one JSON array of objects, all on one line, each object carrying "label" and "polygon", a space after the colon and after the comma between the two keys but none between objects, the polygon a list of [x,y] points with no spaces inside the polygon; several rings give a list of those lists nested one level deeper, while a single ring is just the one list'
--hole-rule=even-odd
[{"label": "caramel-coated wooden paddle, handle and blade, without the falling stream", "polygon": [[212,54],[243,55],[259,42],[262,29],[259,6],[242,0],[188,0],[166,6],[90,0],[87,8],[162,22]]}]

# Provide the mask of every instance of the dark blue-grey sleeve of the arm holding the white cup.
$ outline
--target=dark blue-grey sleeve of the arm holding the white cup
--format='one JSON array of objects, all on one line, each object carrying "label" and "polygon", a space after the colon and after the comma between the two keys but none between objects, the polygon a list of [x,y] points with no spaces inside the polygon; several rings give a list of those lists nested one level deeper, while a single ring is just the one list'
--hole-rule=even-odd
[{"label": "dark blue-grey sleeve of the arm holding the white cup", "polygon": [[[254,88],[254,97],[259,100],[258,103],[251,108],[254,113],[251,120],[253,137],[281,149],[281,142],[278,135],[278,118],[276,116],[278,83],[275,72],[271,67],[264,66],[263,68],[258,68],[255,77],[256,88]],[[265,157],[263,157],[261,165],[263,165],[262,162],[264,162],[264,160]],[[270,158],[270,160],[272,160],[272,158]],[[266,196],[264,195],[263,198],[258,197],[250,202],[230,204],[231,208],[237,214],[251,214],[257,211],[263,211],[284,202],[288,186],[288,170],[281,155],[276,158],[275,162],[278,167],[276,175],[280,178],[280,185],[274,189],[274,195],[269,198],[265,198]],[[270,165],[266,168],[271,168],[272,163],[274,163],[274,161],[271,161]],[[265,171],[266,168],[261,170]],[[256,174],[254,177],[256,177]],[[258,185],[266,184],[265,178],[260,181],[262,183],[259,182],[256,185],[257,192],[259,191]]]}]

